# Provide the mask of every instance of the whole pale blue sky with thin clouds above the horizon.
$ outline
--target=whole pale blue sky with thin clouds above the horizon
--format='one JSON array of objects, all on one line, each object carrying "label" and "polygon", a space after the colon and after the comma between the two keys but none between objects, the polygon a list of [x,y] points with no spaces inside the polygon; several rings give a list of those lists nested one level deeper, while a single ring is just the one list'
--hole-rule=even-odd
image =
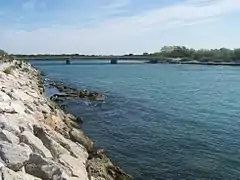
[{"label": "whole pale blue sky with thin clouds above the horizon", "polygon": [[0,49],[128,54],[240,47],[240,0],[0,0]]}]

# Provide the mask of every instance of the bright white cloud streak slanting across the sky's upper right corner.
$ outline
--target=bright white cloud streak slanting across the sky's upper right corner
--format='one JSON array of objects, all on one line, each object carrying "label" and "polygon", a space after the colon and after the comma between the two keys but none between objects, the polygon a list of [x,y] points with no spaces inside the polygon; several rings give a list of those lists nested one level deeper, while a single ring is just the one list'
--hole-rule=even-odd
[{"label": "bright white cloud streak slanting across the sky's upper right corner", "polygon": [[141,15],[131,17],[129,20],[132,21],[130,23],[138,23],[141,26],[154,27],[155,25],[158,26],[159,23],[165,26],[173,21],[181,21],[181,25],[184,25],[185,21],[207,19],[240,10],[239,0],[215,0],[205,6],[197,6],[199,2],[203,1],[207,2],[206,0],[194,0],[194,3],[193,1],[188,1],[187,3],[150,10]]}]

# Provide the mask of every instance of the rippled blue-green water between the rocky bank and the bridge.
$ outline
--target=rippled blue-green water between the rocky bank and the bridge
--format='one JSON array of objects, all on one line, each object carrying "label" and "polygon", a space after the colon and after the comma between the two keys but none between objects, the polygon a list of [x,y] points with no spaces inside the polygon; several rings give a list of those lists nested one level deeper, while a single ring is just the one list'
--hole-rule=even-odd
[{"label": "rippled blue-green water between the rocky bank and the bridge", "polygon": [[135,179],[240,179],[239,67],[33,64],[48,78],[108,95],[66,105]]}]

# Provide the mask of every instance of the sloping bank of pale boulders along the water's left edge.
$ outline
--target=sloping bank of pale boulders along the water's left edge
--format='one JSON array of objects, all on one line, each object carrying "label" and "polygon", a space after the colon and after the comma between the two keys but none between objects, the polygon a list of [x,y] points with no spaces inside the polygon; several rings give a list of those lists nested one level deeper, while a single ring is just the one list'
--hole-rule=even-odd
[{"label": "sloping bank of pale boulders along the water's left edge", "polygon": [[94,147],[78,118],[45,97],[30,64],[5,63],[0,88],[0,180],[132,179]]}]

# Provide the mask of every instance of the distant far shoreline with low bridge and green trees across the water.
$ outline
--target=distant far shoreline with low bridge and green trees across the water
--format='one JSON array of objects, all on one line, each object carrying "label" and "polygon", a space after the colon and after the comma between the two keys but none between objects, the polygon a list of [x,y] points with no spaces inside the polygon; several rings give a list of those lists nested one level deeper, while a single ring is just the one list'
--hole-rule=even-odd
[{"label": "distant far shoreline with low bridge and green trees across the water", "polygon": [[138,60],[146,63],[173,63],[173,64],[201,64],[201,65],[227,65],[239,66],[240,48],[227,49],[194,49],[186,46],[163,46],[157,52],[144,52],[142,54],[127,53],[122,55],[85,55],[79,53],[59,54],[10,54],[19,60],[110,60],[117,64],[118,60]]}]

